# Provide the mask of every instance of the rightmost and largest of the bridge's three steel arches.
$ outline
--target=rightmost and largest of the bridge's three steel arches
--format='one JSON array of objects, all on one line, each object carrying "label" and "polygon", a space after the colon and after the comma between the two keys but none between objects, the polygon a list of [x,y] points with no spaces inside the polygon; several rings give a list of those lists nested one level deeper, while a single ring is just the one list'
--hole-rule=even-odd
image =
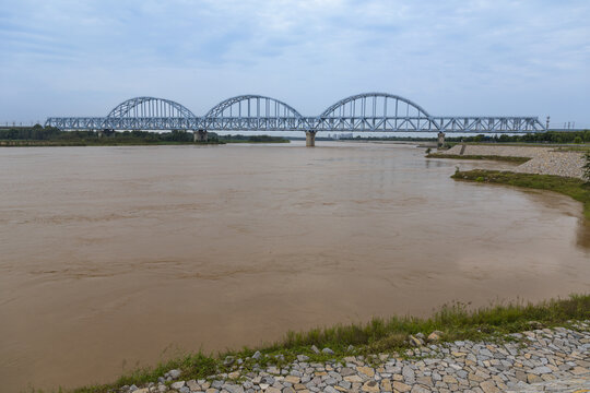
[{"label": "rightmost and largest of the bridge's three steel arches", "polygon": [[428,119],[430,115],[416,103],[389,93],[362,93],[329,106],[320,118],[363,117]]}]

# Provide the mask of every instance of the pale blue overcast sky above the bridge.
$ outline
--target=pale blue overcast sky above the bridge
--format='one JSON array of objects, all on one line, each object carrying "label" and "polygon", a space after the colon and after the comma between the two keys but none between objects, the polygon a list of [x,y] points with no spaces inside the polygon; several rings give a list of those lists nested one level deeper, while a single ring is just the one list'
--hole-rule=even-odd
[{"label": "pale blue overcast sky above the bridge", "polygon": [[248,93],[314,116],[386,92],[590,128],[589,21],[588,0],[0,0],[0,122]]}]

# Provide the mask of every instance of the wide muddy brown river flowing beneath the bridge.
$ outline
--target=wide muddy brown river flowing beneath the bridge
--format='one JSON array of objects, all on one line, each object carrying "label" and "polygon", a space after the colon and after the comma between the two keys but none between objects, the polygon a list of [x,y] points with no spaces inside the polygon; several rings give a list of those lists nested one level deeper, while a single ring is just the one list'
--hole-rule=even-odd
[{"label": "wide muddy brown river flowing beneath the bridge", "polygon": [[590,288],[581,204],[410,145],[0,150],[0,385]]}]

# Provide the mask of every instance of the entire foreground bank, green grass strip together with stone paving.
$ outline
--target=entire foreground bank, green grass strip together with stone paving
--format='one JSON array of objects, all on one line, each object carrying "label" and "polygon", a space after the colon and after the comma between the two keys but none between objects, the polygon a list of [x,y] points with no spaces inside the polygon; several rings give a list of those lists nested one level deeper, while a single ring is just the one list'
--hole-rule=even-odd
[{"label": "entire foreground bank, green grass strip together with stone paving", "polygon": [[471,312],[453,305],[427,320],[374,320],[292,333],[259,350],[189,355],[74,392],[571,391],[590,386],[589,302],[585,295]]}]

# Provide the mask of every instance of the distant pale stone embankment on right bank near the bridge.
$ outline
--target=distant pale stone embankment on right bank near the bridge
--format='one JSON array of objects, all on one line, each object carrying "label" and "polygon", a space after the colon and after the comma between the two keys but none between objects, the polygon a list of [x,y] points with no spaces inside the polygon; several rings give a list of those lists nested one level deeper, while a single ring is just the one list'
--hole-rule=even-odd
[{"label": "distant pale stone embankment on right bank near the bridge", "polygon": [[448,151],[439,151],[438,153],[452,155],[529,157],[531,158],[530,160],[515,167],[512,171],[556,175],[579,179],[581,179],[583,175],[583,153],[557,151],[554,147],[458,144]]}]

